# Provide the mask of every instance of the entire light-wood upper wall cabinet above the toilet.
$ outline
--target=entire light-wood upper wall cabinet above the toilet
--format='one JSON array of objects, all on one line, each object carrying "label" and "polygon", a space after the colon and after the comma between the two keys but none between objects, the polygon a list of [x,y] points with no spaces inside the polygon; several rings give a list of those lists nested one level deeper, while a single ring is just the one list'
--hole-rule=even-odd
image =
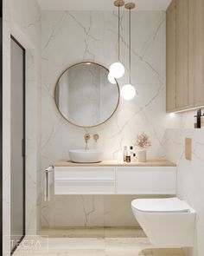
[{"label": "entire light-wood upper wall cabinet above the toilet", "polygon": [[204,0],[167,10],[167,112],[204,106]]}]

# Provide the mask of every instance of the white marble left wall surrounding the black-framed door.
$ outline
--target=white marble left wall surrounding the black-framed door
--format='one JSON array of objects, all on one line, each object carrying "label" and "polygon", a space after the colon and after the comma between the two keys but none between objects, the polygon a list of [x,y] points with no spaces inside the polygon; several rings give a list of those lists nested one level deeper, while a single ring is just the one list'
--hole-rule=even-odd
[{"label": "white marble left wall surrounding the black-framed door", "polygon": [[[10,235],[10,34],[26,49],[26,233],[37,230],[41,174],[41,12],[36,1],[3,0],[3,234]],[[38,181],[41,179],[38,177]],[[3,244],[3,256],[7,255]],[[10,245],[9,245],[10,246]],[[9,253],[10,254],[10,253]]]}]

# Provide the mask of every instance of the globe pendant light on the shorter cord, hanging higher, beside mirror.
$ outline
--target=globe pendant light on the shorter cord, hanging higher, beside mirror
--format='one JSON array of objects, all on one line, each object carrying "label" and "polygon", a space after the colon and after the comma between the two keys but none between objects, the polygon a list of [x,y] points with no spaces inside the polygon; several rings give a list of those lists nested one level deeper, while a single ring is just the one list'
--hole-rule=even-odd
[{"label": "globe pendant light on the shorter cord, hanging higher, beside mirror", "polygon": [[[120,23],[120,7],[124,6],[124,1],[123,0],[116,0],[114,2],[114,5],[118,7],[118,62],[112,63],[110,67],[110,72],[109,72],[109,77],[110,77],[110,82],[113,81],[112,79],[115,80],[115,78],[120,78],[124,75],[124,65],[120,62],[120,49],[119,49],[119,43],[120,43],[120,28],[119,28],[119,23]],[[116,82],[114,82],[116,83]]]}]

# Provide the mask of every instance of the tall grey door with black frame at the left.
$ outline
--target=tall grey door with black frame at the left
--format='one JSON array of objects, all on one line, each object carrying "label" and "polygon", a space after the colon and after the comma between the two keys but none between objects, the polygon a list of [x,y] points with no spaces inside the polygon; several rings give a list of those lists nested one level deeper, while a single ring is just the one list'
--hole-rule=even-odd
[{"label": "tall grey door with black frame at the left", "polygon": [[11,251],[25,234],[25,49],[10,39]]}]

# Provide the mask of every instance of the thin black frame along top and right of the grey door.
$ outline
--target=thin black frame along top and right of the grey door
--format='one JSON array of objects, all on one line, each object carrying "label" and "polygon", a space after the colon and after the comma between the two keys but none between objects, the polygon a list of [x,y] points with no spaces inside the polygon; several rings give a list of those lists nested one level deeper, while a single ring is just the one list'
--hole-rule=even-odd
[{"label": "thin black frame along top and right of the grey door", "polygon": [[[25,95],[25,90],[26,90],[26,87],[25,87],[25,84],[26,84],[26,50],[25,48],[22,46],[21,43],[19,43],[16,38],[12,35],[10,35],[10,40],[13,40],[21,49],[22,49],[22,54],[23,54],[23,67],[22,67],[22,70],[23,70],[23,81],[22,81],[22,97],[23,97],[23,102],[22,102],[22,105],[23,105],[23,124],[22,124],[22,129],[23,129],[23,142],[22,142],[22,159],[23,159],[23,162],[22,162],[22,167],[23,167],[23,170],[22,170],[22,173],[23,173],[23,232],[22,232],[22,238],[20,241],[23,240],[23,238],[25,237],[25,234],[26,234],[26,95]],[[16,251],[16,248],[17,246],[15,246],[10,255],[12,255],[15,251]]]}]

